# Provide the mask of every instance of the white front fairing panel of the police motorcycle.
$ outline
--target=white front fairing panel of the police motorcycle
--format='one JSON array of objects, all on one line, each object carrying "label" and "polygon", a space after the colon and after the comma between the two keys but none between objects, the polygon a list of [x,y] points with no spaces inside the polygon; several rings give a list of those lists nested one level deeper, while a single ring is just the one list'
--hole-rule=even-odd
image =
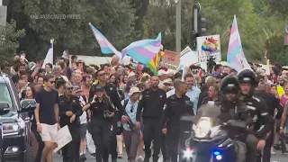
[{"label": "white front fairing panel of the police motorcycle", "polygon": [[211,130],[211,120],[210,118],[200,119],[196,128],[195,128],[195,136],[198,138],[204,138],[208,135]]}]

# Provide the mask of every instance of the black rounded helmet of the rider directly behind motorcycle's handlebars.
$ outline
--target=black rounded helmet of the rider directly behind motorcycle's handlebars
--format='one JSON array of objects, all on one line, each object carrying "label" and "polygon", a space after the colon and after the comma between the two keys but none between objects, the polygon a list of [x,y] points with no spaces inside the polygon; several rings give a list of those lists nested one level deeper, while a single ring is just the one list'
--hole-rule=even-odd
[{"label": "black rounded helmet of the rider directly behind motorcycle's handlebars", "polygon": [[223,94],[238,94],[240,85],[236,76],[225,76],[221,81],[220,90]]}]

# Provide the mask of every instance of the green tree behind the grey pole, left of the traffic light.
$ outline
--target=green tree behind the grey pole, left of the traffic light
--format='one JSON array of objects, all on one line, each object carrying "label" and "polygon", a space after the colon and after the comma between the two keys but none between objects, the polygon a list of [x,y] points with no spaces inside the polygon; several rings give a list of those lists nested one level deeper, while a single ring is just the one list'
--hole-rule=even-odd
[{"label": "green tree behind the grey pole, left of the traffic light", "polygon": [[[189,45],[193,1],[182,0],[182,49]],[[165,49],[175,50],[175,0],[152,0],[144,19],[145,37],[162,32]]]}]

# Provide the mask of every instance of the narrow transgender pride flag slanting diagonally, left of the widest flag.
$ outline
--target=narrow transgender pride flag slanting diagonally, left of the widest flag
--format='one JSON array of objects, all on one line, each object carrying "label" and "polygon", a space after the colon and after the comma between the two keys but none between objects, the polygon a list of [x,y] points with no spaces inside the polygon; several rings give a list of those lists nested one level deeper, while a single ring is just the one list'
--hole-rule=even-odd
[{"label": "narrow transgender pride flag slanting diagonally, left of the widest flag", "polygon": [[112,44],[103,36],[103,34],[98,31],[92,23],[89,23],[92,31],[94,32],[94,36],[96,38],[96,40],[98,41],[101,51],[103,54],[111,54],[114,53],[115,55],[117,55],[119,58],[122,58],[121,56],[121,52],[118,51],[117,49],[115,49]]}]

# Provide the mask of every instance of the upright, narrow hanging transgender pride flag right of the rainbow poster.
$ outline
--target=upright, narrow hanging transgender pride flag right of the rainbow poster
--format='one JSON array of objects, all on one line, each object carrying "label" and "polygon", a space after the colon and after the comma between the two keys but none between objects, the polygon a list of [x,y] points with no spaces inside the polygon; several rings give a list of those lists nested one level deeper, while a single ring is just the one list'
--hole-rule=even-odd
[{"label": "upright, narrow hanging transgender pride flag right of the rainbow poster", "polygon": [[251,69],[243,52],[236,15],[234,15],[234,20],[230,31],[227,63],[229,67],[234,68],[236,71],[239,71],[243,68]]}]

